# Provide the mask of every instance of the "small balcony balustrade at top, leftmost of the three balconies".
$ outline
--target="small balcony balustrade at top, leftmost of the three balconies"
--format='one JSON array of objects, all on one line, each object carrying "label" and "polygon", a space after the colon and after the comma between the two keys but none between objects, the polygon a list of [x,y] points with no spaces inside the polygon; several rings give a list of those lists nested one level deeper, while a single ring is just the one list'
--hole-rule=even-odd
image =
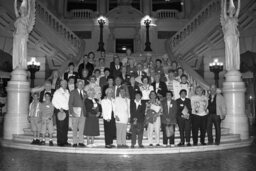
[{"label": "small balcony balustrade at top, leftmost of the three balconies", "polygon": [[74,9],[70,11],[70,17],[75,19],[92,19],[94,12],[89,9]]}]

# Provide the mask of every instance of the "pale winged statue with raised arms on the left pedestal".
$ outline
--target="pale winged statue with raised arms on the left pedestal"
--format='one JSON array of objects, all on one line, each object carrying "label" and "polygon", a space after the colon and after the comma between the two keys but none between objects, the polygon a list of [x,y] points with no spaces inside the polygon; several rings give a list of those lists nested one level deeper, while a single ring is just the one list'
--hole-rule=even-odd
[{"label": "pale winged statue with raised arms on the left pedestal", "polygon": [[14,0],[14,11],[17,19],[14,22],[12,65],[13,69],[27,69],[27,41],[35,24],[35,0],[23,0],[19,9]]}]

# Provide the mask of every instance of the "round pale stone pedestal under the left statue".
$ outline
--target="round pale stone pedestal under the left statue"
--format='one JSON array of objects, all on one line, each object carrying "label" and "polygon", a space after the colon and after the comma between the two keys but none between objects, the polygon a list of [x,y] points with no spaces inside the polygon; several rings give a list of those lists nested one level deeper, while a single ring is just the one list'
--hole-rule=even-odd
[{"label": "round pale stone pedestal under the left statue", "polygon": [[11,74],[7,90],[7,114],[4,118],[4,139],[12,139],[13,134],[23,134],[29,126],[27,121],[30,86],[27,72],[15,69]]}]

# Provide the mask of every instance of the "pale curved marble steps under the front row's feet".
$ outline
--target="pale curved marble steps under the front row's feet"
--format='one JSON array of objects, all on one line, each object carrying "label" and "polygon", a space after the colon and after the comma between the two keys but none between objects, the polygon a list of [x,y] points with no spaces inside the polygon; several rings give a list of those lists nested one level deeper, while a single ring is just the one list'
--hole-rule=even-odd
[{"label": "pale curved marble steps under the front row's feet", "polygon": [[[131,148],[113,148],[106,149],[104,148],[104,127],[103,120],[99,120],[100,123],[100,136],[95,137],[96,147],[92,148],[73,148],[73,147],[58,147],[56,146],[57,138],[56,131],[54,131],[53,135],[53,147],[48,146],[49,138],[46,138],[46,145],[31,145],[30,142],[33,138],[32,132],[30,128],[24,129],[24,134],[13,135],[13,140],[0,140],[0,143],[4,147],[12,147],[18,149],[28,149],[28,150],[37,150],[37,151],[49,151],[49,152],[61,152],[61,153],[87,153],[87,154],[168,154],[168,153],[188,153],[188,152],[204,152],[204,151],[212,151],[212,150],[224,150],[231,148],[241,148],[245,146],[249,146],[252,140],[241,140],[240,135],[230,134],[229,129],[221,128],[221,144],[220,145],[206,145],[206,146],[191,146],[191,147],[149,147],[147,141],[147,132],[144,132],[143,144],[145,148],[141,149],[135,146],[135,149]],[[128,126],[129,128],[129,126]],[[215,132],[213,129],[213,135],[215,136]],[[86,137],[85,142],[86,142]],[[207,136],[205,138],[207,143]],[[72,131],[68,132],[68,142],[72,144]],[[178,127],[175,129],[175,144],[177,145],[180,142],[179,130]],[[192,142],[192,138],[191,138]],[[199,140],[200,142],[200,140]],[[160,136],[160,143],[162,144],[162,132]],[[116,141],[114,141],[116,144]],[[131,140],[127,140],[127,145],[131,145]]]}]

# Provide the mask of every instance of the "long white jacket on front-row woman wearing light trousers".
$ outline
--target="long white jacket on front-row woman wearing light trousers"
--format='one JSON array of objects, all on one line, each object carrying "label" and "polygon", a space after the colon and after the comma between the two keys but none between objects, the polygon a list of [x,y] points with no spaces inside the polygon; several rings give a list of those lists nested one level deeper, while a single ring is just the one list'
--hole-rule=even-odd
[{"label": "long white jacket on front-row woman wearing light trousers", "polygon": [[127,124],[130,118],[130,99],[117,97],[115,99],[114,115],[119,118],[119,121],[116,120],[116,123]]}]

